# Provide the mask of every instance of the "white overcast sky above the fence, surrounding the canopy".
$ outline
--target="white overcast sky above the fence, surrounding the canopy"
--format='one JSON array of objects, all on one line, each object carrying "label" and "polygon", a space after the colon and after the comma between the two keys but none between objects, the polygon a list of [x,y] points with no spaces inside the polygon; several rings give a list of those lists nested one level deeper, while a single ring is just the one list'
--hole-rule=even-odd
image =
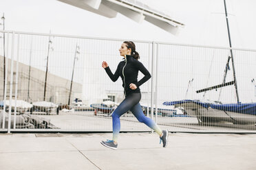
[{"label": "white overcast sky above the fence, surrounding the canopy", "polygon": [[[6,29],[228,47],[223,0],[140,0],[184,23],[178,36],[122,14],[108,19],[56,0],[0,0]],[[256,49],[256,1],[226,0],[233,47]],[[1,27],[1,26],[0,26]],[[2,29],[2,27],[1,27]]]}]

